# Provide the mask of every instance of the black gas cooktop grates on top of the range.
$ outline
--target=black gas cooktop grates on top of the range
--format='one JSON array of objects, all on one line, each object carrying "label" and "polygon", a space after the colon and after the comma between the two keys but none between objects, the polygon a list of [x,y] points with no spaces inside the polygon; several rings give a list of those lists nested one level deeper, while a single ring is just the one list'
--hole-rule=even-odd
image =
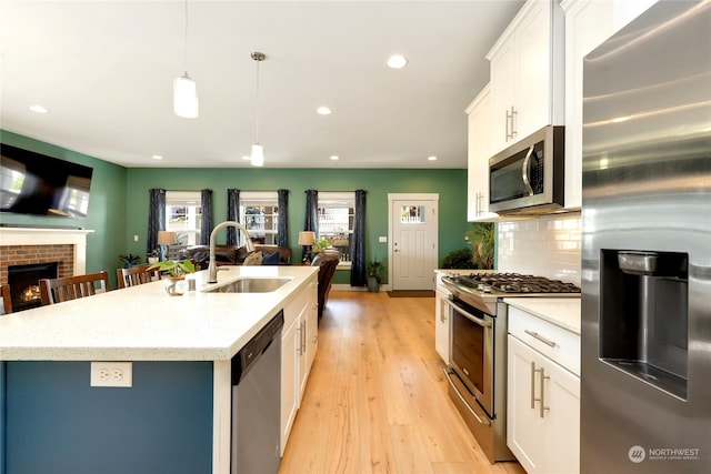
[{"label": "black gas cooktop grates on top of the range", "polygon": [[572,283],[519,273],[471,273],[452,275],[451,280],[483,293],[580,293]]}]

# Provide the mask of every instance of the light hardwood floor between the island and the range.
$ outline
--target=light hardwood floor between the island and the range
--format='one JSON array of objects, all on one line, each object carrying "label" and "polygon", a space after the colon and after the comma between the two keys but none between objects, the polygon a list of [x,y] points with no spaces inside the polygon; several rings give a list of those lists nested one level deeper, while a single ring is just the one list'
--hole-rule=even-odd
[{"label": "light hardwood floor between the island and the range", "polygon": [[525,474],[489,463],[443,366],[433,297],[332,291],[280,474]]}]

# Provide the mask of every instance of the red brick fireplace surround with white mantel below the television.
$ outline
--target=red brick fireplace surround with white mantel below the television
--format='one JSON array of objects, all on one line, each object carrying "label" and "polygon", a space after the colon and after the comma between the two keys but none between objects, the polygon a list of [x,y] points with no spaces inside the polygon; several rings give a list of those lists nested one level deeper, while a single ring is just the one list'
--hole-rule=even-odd
[{"label": "red brick fireplace surround with white mantel below the television", "polygon": [[0,228],[0,283],[8,283],[8,268],[58,262],[59,276],[87,270],[87,234],[83,229]]}]

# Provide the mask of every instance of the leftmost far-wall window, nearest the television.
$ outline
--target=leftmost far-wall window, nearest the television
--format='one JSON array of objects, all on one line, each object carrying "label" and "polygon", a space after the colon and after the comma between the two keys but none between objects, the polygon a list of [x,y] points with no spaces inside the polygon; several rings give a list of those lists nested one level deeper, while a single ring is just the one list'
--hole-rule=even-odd
[{"label": "leftmost far-wall window, nearest the television", "polygon": [[[170,253],[200,243],[202,206],[200,191],[166,191],[166,230],[177,235]],[[173,249],[173,246],[176,249]]]}]

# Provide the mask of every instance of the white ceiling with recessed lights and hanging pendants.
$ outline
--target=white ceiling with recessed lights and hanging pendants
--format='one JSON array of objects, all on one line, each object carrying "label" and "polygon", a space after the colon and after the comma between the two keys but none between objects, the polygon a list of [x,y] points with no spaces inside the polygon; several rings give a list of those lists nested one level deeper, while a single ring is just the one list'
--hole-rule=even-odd
[{"label": "white ceiling with recessed lights and hanging pendants", "polygon": [[0,127],[130,168],[246,168],[261,51],[266,168],[465,168],[464,109],[522,3],[190,0],[200,117],[181,119],[183,1],[1,0]]}]

